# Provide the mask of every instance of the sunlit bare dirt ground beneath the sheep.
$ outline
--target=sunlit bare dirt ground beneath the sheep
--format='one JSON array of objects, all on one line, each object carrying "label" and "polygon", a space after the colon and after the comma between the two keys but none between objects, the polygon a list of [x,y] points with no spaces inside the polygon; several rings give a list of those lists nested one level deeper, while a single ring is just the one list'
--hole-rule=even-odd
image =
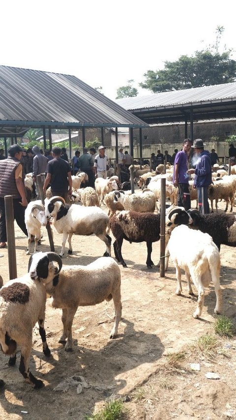
[{"label": "sunlit bare dirt ground beneath the sheep", "polygon": [[[40,250],[49,251],[45,228],[42,233]],[[27,239],[17,226],[15,236],[20,276],[28,266]],[[61,236],[56,231],[54,241],[59,252]],[[105,251],[104,243],[94,236],[74,236],[72,246],[73,255],[65,254],[63,265],[86,265]],[[159,247],[159,242],[153,244],[155,264]],[[192,314],[197,296],[188,296],[184,276],[183,295],[175,295],[177,282],[172,263],[165,278],[160,278],[157,267],[146,267],[145,243],[124,241],[122,253],[128,268],[120,266],[123,310],[118,338],[109,339],[112,301],[80,307],[73,325],[74,351],[66,353],[58,343],[62,329],[60,310],[52,309],[48,301],[45,325],[52,356],[47,359],[43,355],[36,326],[30,359],[30,369],[45,387],[33,390],[24,382],[18,370],[19,352],[15,367],[9,367],[8,358],[1,353],[0,378],[6,385],[0,391],[0,419],[82,420],[86,414],[101,409],[111,395],[125,400],[126,419],[236,419],[235,337],[217,338],[217,348],[211,355],[197,346],[200,336],[214,334],[213,288],[206,290],[202,318],[196,320]],[[7,249],[1,249],[0,255],[0,274],[6,282]],[[221,285],[223,313],[236,321],[236,252],[226,246],[221,248]],[[168,355],[172,353],[182,356],[179,363],[170,361]],[[191,370],[190,363],[200,363],[200,371]],[[217,373],[220,379],[207,379],[207,372]],[[73,375],[83,376],[89,388],[79,394],[75,387],[66,392],[54,391]]]}]

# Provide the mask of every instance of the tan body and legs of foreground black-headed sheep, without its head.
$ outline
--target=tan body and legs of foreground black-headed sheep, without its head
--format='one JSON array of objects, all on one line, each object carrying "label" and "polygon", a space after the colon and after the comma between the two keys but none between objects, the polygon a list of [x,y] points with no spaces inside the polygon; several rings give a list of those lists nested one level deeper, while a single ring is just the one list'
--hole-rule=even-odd
[{"label": "tan body and legs of foreground black-headed sheep, without its head", "polygon": [[121,318],[120,269],[110,257],[98,258],[88,266],[64,266],[57,281],[47,283],[46,290],[52,296],[52,306],[62,309],[63,333],[59,343],[65,343],[65,351],[72,351],[72,323],[78,306],[95,305],[113,299],[115,324],[110,333],[114,338],[118,333]]}]

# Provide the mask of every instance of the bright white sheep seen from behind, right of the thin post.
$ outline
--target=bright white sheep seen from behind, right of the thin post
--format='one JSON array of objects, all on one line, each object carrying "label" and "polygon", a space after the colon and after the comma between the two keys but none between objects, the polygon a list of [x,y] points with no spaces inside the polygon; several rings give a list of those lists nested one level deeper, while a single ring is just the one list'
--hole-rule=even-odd
[{"label": "bright white sheep seen from behind, right of the thin post", "polygon": [[[189,246],[191,244],[191,246]],[[222,291],[220,288],[220,254],[212,238],[207,234],[191,230],[187,226],[178,226],[171,234],[168,250],[176,267],[177,290],[181,295],[181,269],[185,270],[188,293],[193,294],[190,276],[198,290],[197,309],[193,314],[199,318],[204,304],[205,287],[214,284],[216,294],[215,314],[222,308]]]}]

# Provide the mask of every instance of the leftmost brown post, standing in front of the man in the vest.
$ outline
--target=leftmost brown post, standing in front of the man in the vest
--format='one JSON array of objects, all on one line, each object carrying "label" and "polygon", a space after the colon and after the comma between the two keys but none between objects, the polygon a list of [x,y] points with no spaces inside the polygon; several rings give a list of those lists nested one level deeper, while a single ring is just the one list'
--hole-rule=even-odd
[{"label": "leftmost brown post, standing in front of the man in the vest", "polygon": [[9,279],[17,278],[16,270],[16,243],[14,230],[14,213],[12,195],[5,195],[5,214],[6,214],[6,237],[8,252]]}]

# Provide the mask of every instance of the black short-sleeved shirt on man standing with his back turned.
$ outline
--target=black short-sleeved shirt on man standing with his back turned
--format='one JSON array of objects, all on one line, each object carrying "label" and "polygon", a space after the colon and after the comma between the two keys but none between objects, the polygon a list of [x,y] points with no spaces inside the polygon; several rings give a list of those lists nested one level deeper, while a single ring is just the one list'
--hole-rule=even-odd
[{"label": "black short-sleeved shirt on man standing with his back turned", "polygon": [[59,158],[48,162],[47,173],[51,174],[52,191],[66,192],[68,190],[68,172],[71,171],[70,165],[65,160]]}]

